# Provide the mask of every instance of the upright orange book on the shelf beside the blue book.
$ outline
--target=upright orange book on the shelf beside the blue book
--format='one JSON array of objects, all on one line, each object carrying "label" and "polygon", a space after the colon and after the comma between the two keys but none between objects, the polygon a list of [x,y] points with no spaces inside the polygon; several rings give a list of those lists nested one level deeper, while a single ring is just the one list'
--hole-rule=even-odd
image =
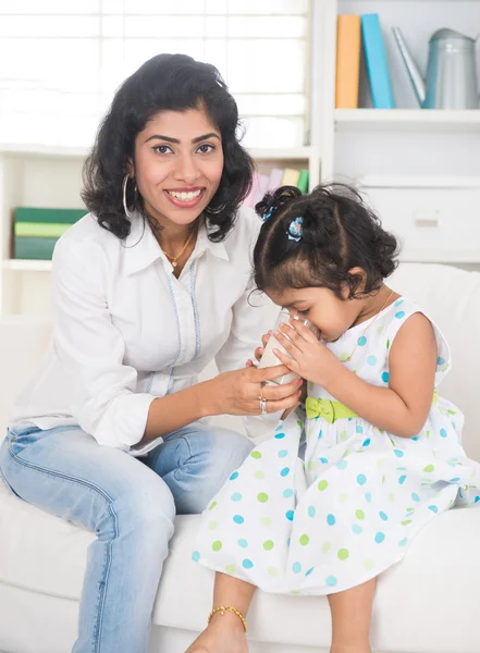
[{"label": "upright orange book on the shelf beside the blue book", "polygon": [[358,108],[360,38],[360,16],[340,15],[336,33],[335,107],[337,109]]}]

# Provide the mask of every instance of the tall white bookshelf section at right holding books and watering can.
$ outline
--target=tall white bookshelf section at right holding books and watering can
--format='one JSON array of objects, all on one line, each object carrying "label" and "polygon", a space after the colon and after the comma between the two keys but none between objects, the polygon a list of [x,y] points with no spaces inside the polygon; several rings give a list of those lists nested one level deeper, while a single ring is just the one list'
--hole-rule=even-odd
[{"label": "tall white bookshelf section at right holding books and watering can", "polygon": [[[480,269],[480,107],[420,109],[391,29],[402,29],[424,74],[428,40],[436,29],[448,27],[476,37],[480,0],[327,0],[320,4],[316,22],[321,41],[317,56],[322,67],[321,115],[316,134],[321,143],[321,181],[359,184],[403,243],[404,260]],[[362,54],[361,108],[335,109],[337,16],[367,13],[379,14],[396,108],[372,109]],[[477,64],[480,75],[478,51]],[[405,183],[407,176],[417,180],[417,187]],[[447,187],[442,187],[445,180]]]}]

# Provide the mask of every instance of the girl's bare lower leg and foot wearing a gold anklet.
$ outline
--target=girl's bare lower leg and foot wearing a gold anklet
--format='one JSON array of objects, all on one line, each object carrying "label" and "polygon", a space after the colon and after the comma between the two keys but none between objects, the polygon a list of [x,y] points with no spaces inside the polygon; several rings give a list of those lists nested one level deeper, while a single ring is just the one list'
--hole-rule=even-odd
[{"label": "girl's bare lower leg and foot wearing a gold anklet", "polygon": [[[249,582],[217,572],[213,607],[230,605],[246,617],[255,590]],[[186,653],[248,653],[241,619],[231,612],[225,612],[224,616],[216,613]]]}]

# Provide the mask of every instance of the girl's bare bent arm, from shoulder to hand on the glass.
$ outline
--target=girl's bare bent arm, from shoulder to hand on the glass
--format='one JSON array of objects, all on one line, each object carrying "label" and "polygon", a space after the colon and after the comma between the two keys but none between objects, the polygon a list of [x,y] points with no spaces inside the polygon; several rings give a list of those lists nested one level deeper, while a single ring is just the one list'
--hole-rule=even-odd
[{"label": "girl's bare bent arm, from shoulder to hand on the glass", "polygon": [[[292,326],[283,330],[287,329]],[[313,342],[301,324],[295,324],[295,330],[300,335],[295,345],[281,336],[294,358],[278,354],[286,367],[324,387],[374,427],[401,438],[419,433],[432,404],[438,357],[433,328],[422,313],[408,318],[393,341],[389,387],[362,381],[324,345]]]}]

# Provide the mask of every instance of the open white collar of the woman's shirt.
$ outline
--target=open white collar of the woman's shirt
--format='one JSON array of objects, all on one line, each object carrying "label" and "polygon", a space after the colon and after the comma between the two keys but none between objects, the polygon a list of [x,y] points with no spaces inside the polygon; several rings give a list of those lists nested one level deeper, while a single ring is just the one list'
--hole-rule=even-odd
[{"label": "open white collar of the woman's shirt", "polygon": [[[122,246],[125,249],[126,274],[145,270],[158,259],[161,259],[165,270],[172,272],[172,263],[161,250],[150,225],[139,211],[134,212],[131,224],[132,229],[128,236],[122,241]],[[223,243],[212,243],[208,237],[208,230],[201,221],[192,258],[200,258],[206,251],[210,251],[217,258],[230,261],[225,245]]]}]

